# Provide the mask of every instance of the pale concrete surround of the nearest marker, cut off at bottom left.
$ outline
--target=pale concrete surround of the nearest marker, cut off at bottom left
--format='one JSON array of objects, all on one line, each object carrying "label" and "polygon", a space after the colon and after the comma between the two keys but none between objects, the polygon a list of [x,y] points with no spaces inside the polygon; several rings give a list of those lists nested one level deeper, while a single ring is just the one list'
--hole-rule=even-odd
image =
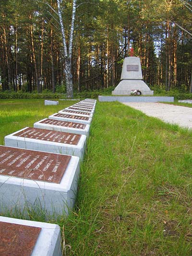
[{"label": "pale concrete surround of the nearest marker, cut off at bottom left", "polygon": [[[22,231],[23,226],[28,227],[35,227],[40,228],[41,231],[39,232],[39,235],[37,237],[35,246],[32,250],[31,256],[62,256],[61,252],[61,236],[60,236],[60,226],[56,224],[50,224],[50,223],[44,223],[44,222],[37,222],[37,221],[31,221],[31,220],[24,220],[24,219],[12,219],[7,217],[0,216],[0,221],[4,223],[10,223],[10,224],[16,224]],[[22,226],[21,226],[22,225]],[[16,237],[19,237],[19,232],[16,235]],[[10,237],[4,238],[4,245],[6,246],[6,240],[11,240],[12,234],[10,234]],[[14,240],[15,245],[17,246],[15,248],[15,251],[18,251],[18,246],[22,246],[23,241],[17,241],[17,238]],[[20,245],[21,244],[21,245]],[[25,245],[25,244],[24,244]],[[1,248],[2,249],[2,248]],[[22,250],[22,248],[21,248]],[[25,253],[27,248],[25,249]],[[9,255],[9,244],[7,243],[7,249],[6,249],[7,255]]]}]

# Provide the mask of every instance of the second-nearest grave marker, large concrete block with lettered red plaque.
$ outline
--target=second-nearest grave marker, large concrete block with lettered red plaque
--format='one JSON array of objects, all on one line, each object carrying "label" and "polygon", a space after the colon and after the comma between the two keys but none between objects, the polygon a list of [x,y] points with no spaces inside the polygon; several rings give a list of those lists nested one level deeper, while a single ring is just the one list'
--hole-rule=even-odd
[{"label": "second-nearest grave marker, large concrete block with lettered red plaque", "polygon": [[0,212],[68,215],[75,203],[79,158],[0,146]]}]

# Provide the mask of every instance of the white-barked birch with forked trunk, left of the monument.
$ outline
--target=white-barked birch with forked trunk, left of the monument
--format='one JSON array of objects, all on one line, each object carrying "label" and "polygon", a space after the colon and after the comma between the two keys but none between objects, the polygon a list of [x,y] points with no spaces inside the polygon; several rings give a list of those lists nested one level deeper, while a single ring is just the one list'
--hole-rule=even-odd
[{"label": "white-barked birch with forked trunk, left of the monument", "polygon": [[62,35],[63,53],[64,53],[63,54],[64,55],[64,73],[65,73],[65,80],[66,80],[67,98],[73,98],[72,42],[73,42],[75,12],[76,12],[76,0],[72,1],[72,22],[71,22],[71,30],[70,30],[68,46],[66,42],[65,27],[62,19],[61,4],[62,4],[62,0],[57,0],[58,16],[59,16],[61,35]]}]

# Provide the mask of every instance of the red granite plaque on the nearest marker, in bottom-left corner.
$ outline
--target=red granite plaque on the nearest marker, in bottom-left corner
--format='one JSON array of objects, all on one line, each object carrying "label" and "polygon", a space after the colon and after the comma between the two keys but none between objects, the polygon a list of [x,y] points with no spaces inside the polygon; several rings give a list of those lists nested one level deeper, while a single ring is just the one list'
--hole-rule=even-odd
[{"label": "red granite plaque on the nearest marker, in bottom-left corner", "polygon": [[30,256],[41,228],[0,221],[0,255]]}]

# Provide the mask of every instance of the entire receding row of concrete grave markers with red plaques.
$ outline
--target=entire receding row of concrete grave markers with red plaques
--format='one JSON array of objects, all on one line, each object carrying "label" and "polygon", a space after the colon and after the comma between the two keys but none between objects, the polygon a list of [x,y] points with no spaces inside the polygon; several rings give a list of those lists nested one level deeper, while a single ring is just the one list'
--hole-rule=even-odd
[{"label": "entire receding row of concrete grave markers with red plaques", "polygon": [[[27,216],[39,210],[47,219],[69,214],[95,107],[96,100],[84,99],[5,136],[5,146],[0,146],[1,214]],[[0,241],[4,256],[62,255],[56,224],[0,216]]]}]

